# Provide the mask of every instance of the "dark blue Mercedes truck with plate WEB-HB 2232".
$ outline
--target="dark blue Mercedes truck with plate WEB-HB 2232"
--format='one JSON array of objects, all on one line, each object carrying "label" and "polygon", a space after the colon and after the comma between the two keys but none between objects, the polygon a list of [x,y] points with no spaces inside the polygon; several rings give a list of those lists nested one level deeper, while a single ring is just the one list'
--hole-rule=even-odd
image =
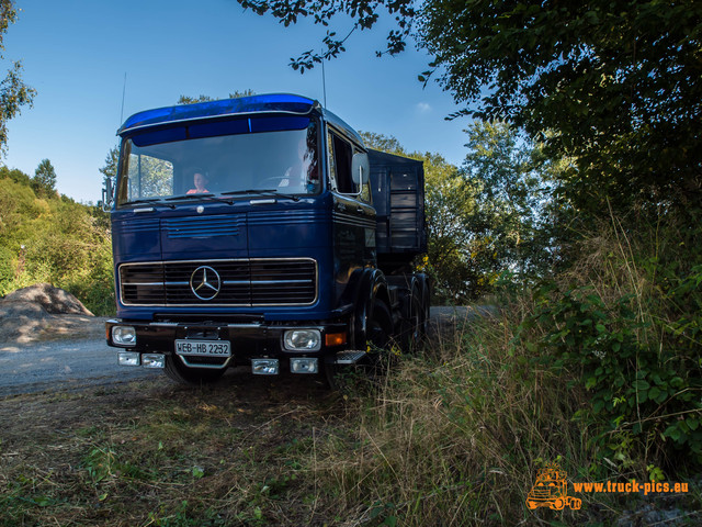
[{"label": "dark blue Mercedes truck with plate WEB-HB 2232", "polygon": [[122,366],[331,377],[427,330],[421,161],[319,102],[267,94],[139,112],[106,180]]}]

